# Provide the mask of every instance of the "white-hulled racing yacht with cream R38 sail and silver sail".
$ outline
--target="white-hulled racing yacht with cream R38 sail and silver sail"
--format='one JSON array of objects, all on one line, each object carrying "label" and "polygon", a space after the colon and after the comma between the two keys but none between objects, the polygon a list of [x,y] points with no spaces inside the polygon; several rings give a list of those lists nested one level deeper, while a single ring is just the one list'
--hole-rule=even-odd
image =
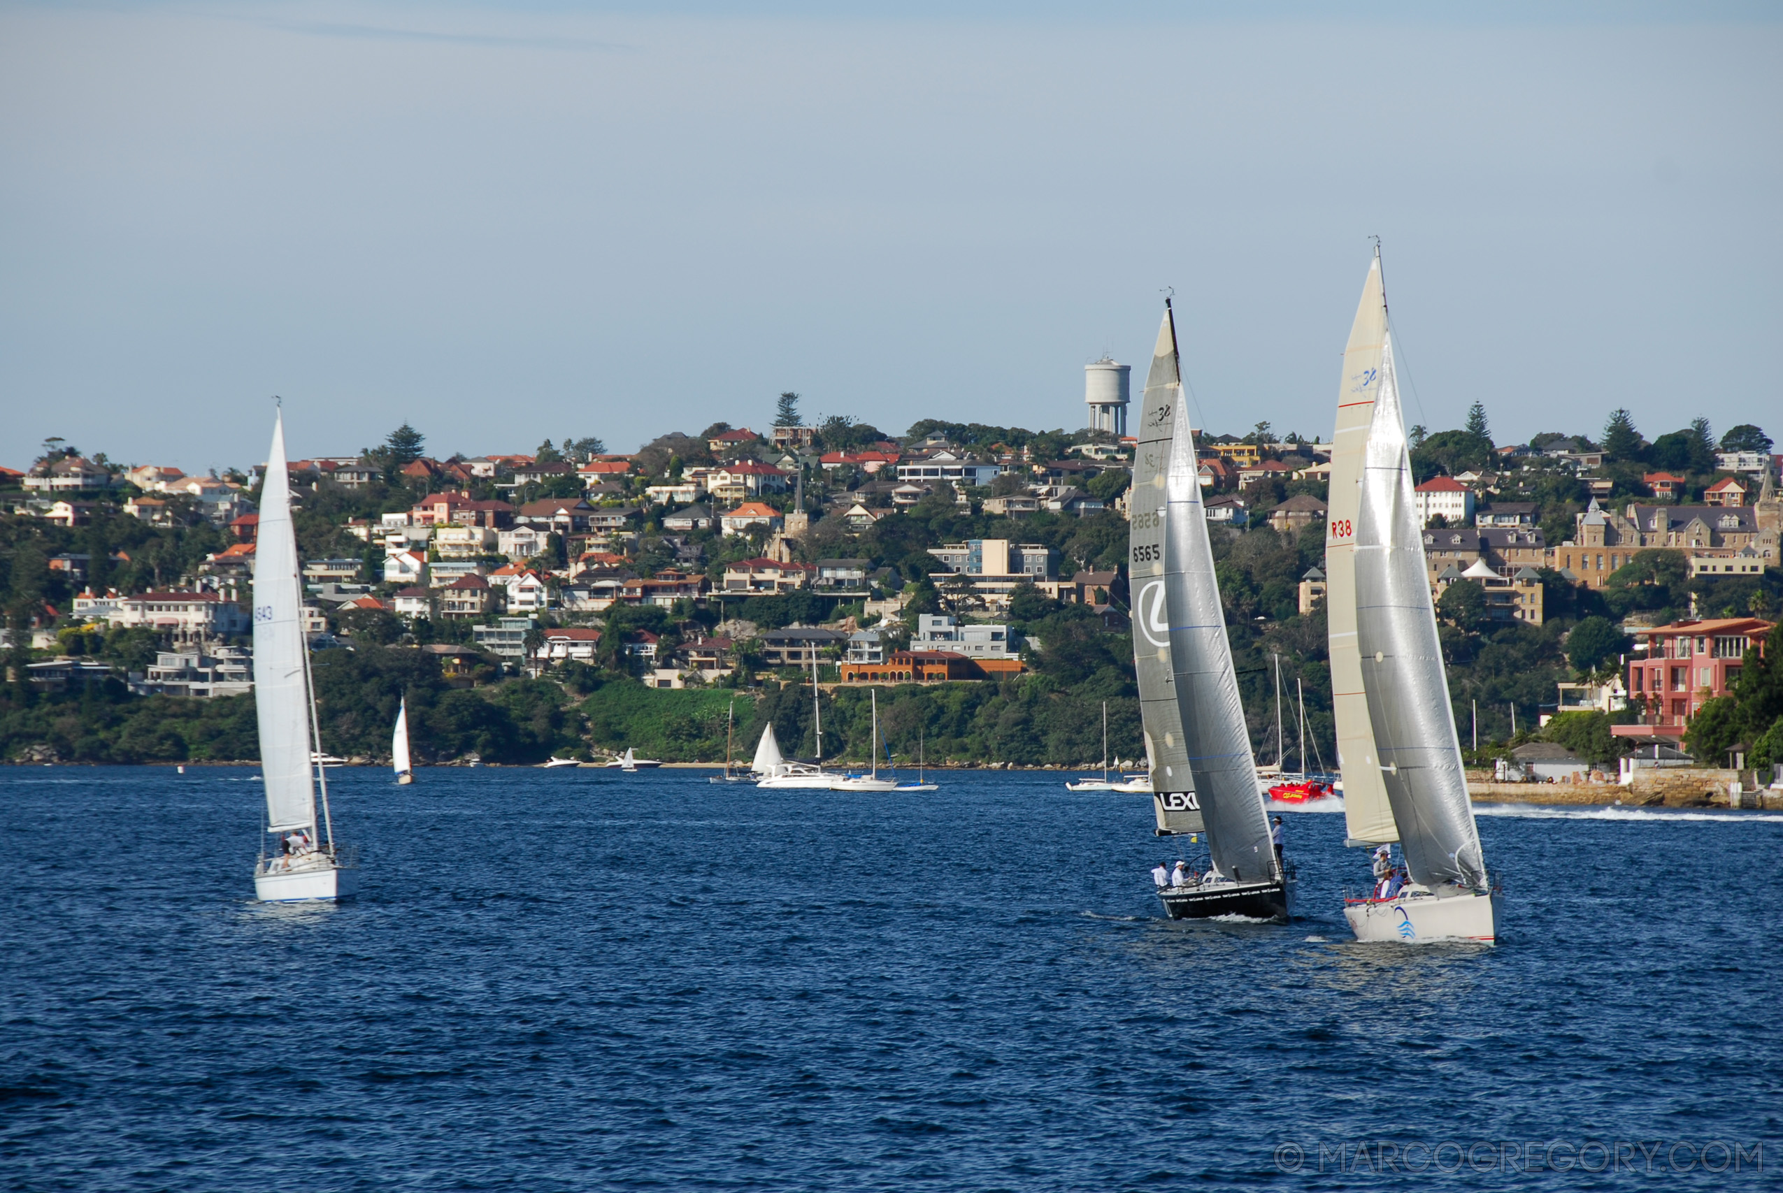
[{"label": "white-hulled racing yacht with cream R38 sail and silver sail", "polygon": [[1344,843],[1400,842],[1409,874],[1391,895],[1348,899],[1344,918],[1357,940],[1496,942],[1498,892],[1442,669],[1378,248],[1344,348],[1325,558]]}]

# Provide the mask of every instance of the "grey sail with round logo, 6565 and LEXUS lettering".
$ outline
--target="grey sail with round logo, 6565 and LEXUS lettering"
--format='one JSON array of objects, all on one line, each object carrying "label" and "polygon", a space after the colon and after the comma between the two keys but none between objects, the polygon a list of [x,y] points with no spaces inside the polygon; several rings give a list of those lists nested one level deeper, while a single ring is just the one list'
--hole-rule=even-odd
[{"label": "grey sail with round logo, 6565 and LEXUS lettering", "polygon": [[[1154,355],[1145,382],[1145,410],[1132,455],[1129,499],[1127,576],[1132,592],[1132,669],[1139,679],[1139,717],[1145,726],[1145,756],[1152,765],[1152,810],[1157,833],[1200,833],[1202,813],[1195,779],[1184,753],[1182,712],[1170,660],[1170,613],[1164,601],[1164,469],[1177,426],[1180,385],[1177,380],[1175,333],[1170,312],[1159,346],[1170,339],[1168,360]],[[1200,517],[1200,508],[1195,510]]]}]

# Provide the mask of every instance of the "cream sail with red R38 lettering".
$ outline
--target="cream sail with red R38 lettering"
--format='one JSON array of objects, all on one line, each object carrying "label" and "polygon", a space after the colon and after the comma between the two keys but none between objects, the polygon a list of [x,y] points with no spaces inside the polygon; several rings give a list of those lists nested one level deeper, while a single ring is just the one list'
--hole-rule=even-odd
[{"label": "cream sail with red R38 lettering", "polygon": [[1380,778],[1380,753],[1362,692],[1362,656],[1355,637],[1355,526],[1362,499],[1362,449],[1380,394],[1387,346],[1387,294],[1380,255],[1368,267],[1355,309],[1337,385],[1337,432],[1332,449],[1330,508],[1325,517],[1325,622],[1330,635],[1332,715],[1337,720],[1337,767],[1343,770],[1344,826],[1352,845],[1400,840]]}]

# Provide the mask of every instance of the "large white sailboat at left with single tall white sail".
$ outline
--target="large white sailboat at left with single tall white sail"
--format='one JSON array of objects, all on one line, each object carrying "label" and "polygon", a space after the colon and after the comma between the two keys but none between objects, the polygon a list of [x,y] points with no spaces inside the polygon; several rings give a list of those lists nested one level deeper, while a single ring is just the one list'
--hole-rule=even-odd
[{"label": "large white sailboat at left with single tall white sail", "polygon": [[[260,490],[253,564],[253,695],[266,783],[266,836],[253,868],[260,902],[346,899],[358,892],[358,867],[333,840],[328,774],[303,635],[303,580],[291,522],[283,410],[273,421],[273,448]],[[317,792],[321,822],[317,822]],[[319,833],[317,833],[319,829]],[[275,843],[276,852],[267,852]]]}]

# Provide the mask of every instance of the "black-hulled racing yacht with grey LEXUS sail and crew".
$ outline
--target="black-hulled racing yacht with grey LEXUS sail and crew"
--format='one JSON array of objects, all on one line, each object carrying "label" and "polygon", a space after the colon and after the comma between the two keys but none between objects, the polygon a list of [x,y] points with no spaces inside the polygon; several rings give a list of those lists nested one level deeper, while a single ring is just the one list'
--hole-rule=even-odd
[{"label": "black-hulled racing yacht with grey LEXUS sail and crew", "polygon": [[[1286,922],[1291,883],[1269,840],[1232,671],[1170,300],[1145,382],[1132,494],[1134,665],[1148,754],[1157,747],[1152,706],[1177,713],[1164,731],[1168,753],[1152,758],[1152,781],[1157,785],[1163,761],[1164,781],[1195,801],[1195,827],[1205,829],[1209,854],[1205,872],[1159,897],[1179,920],[1243,915]],[[1168,797],[1154,799],[1163,831]]]}]

